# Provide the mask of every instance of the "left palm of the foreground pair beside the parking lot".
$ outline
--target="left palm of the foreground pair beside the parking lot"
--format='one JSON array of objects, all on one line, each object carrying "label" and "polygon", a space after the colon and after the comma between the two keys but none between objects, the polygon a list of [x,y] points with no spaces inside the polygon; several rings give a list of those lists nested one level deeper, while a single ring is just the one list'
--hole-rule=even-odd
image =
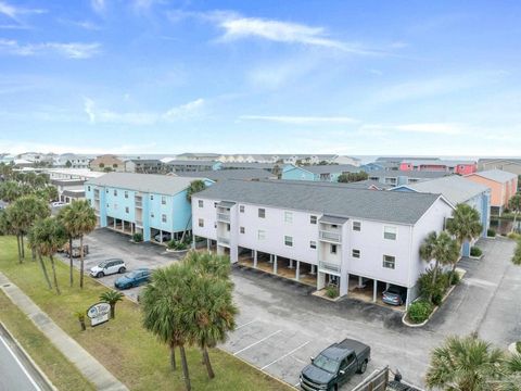
[{"label": "left palm of the foreground pair beside the parking lot", "polygon": [[187,324],[182,314],[189,303],[190,280],[193,274],[183,264],[173,264],[152,274],[152,283],[143,289],[140,297],[143,310],[143,326],[170,349],[170,366],[176,369],[176,348],[181,354],[185,387],[191,389],[185,344],[187,343]]}]

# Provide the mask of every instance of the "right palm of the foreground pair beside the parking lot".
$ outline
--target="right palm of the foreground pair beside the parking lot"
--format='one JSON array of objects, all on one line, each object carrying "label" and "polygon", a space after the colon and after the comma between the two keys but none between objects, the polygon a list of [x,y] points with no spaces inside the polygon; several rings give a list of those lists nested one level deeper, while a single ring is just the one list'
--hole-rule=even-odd
[{"label": "right palm of the foreground pair beside the parking lot", "polygon": [[236,328],[236,315],[239,312],[232,301],[232,289],[227,280],[204,275],[190,285],[191,305],[185,318],[190,326],[188,338],[203,353],[208,378],[215,377],[209,361],[208,348],[225,342],[227,332]]}]

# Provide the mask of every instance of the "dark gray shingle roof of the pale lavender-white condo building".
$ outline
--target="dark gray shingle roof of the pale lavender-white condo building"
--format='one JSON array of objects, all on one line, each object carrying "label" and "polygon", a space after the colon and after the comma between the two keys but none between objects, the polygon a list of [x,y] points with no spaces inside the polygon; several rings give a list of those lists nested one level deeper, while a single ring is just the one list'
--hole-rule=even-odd
[{"label": "dark gray shingle roof of the pale lavender-white condo building", "polygon": [[301,180],[230,179],[208,187],[196,197],[340,217],[415,224],[440,194],[353,189],[339,184],[320,186]]}]

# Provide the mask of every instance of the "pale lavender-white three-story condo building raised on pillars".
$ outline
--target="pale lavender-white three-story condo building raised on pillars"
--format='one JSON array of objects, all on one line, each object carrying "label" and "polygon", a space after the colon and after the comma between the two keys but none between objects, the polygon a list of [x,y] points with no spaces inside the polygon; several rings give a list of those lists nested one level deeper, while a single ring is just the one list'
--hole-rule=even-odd
[{"label": "pale lavender-white three-story condo building raised on pillars", "polygon": [[396,285],[407,288],[408,304],[427,266],[420,244],[444,228],[452,210],[441,194],[230,179],[193,195],[192,229],[233,263],[269,260],[272,273],[294,268],[296,280],[316,274],[317,289],[333,283],[341,295],[350,278],[371,282],[374,301]]}]

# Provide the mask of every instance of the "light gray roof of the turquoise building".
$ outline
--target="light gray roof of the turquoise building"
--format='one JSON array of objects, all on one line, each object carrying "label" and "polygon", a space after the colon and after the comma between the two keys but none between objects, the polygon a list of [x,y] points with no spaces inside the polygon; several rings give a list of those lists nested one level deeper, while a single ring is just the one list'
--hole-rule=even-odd
[{"label": "light gray roof of the turquoise building", "polygon": [[203,178],[181,178],[153,174],[107,173],[102,177],[89,179],[85,184],[174,195],[188,188],[190,182],[195,179]]}]

